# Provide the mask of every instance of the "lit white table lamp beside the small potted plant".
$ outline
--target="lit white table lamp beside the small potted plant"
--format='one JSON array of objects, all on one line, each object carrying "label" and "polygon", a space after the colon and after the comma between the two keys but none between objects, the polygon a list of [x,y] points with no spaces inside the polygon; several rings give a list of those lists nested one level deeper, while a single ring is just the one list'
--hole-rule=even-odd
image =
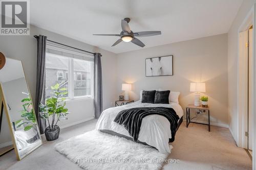
[{"label": "lit white table lamp beside the small potted plant", "polygon": [[190,83],[190,92],[195,92],[195,106],[201,106],[200,92],[205,92],[205,83]]}]

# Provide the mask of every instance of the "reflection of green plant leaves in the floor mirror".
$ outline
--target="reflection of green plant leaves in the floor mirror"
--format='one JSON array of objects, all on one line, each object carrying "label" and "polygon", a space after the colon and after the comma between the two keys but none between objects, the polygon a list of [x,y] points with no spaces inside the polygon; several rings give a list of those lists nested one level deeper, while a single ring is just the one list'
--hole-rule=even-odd
[{"label": "reflection of green plant leaves in the floor mirror", "polygon": [[16,128],[24,125],[24,131],[30,130],[33,126],[36,126],[36,118],[34,114],[34,109],[32,107],[32,100],[30,99],[30,95],[21,101],[24,103],[22,105],[23,110],[20,111],[20,116],[22,119],[19,119],[15,122]]}]

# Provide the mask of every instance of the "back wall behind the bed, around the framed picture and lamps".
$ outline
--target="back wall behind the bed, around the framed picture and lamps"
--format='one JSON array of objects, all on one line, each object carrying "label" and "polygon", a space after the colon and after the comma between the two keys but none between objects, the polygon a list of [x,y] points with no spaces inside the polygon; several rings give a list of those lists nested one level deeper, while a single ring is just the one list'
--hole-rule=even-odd
[{"label": "back wall behind the bed, around the framed picture and lamps", "polygon": [[[169,54],[174,55],[174,76],[145,77],[145,58]],[[227,127],[227,34],[118,54],[117,77],[118,93],[122,83],[132,83],[130,96],[135,100],[141,89],[180,91],[184,113],[186,105],[194,103],[190,82],[206,82],[211,122]]]}]

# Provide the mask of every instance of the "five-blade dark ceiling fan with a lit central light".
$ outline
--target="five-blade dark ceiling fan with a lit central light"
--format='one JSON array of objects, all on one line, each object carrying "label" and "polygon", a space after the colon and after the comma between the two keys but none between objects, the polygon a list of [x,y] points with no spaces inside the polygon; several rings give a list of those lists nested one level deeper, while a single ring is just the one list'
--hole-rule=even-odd
[{"label": "five-blade dark ceiling fan with a lit central light", "polygon": [[121,20],[122,31],[120,34],[93,34],[93,35],[104,35],[104,36],[118,36],[118,39],[112,46],[117,45],[121,41],[124,42],[132,42],[140,47],[144,47],[145,44],[141,42],[138,38],[135,37],[149,37],[154,35],[161,35],[161,31],[142,31],[142,32],[133,32],[131,31],[128,23],[130,22],[130,18],[124,18]]}]

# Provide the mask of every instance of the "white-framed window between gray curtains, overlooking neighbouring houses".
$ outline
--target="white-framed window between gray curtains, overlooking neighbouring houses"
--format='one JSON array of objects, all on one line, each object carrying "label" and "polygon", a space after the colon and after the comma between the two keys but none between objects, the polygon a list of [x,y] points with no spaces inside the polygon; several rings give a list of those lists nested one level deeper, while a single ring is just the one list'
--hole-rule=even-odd
[{"label": "white-framed window between gray curtains, overlooking neighbouring houses", "polygon": [[51,86],[56,83],[67,88],[66,98],[92,97],[93,59],[93,56],[88,54],[80,54],[77,51],[70,51],[62,47],[58,47],[56,50],[51,45],[47,46],[46,99],[52,96]]}]

